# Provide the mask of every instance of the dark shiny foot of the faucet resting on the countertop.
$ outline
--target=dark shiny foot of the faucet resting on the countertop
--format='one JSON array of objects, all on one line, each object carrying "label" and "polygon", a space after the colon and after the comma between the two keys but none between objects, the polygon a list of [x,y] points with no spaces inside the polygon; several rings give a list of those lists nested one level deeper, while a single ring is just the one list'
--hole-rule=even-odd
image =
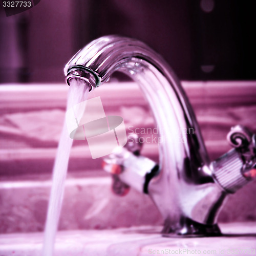
[{"label": "dark shiny foot of the faucet resting on the countertop", "polygon": [[219,237],[222,236],[217,224],[205,225],[183,217],[179,226],[174,226],[169,220],[165,220],[162,230],[163,237]]}]

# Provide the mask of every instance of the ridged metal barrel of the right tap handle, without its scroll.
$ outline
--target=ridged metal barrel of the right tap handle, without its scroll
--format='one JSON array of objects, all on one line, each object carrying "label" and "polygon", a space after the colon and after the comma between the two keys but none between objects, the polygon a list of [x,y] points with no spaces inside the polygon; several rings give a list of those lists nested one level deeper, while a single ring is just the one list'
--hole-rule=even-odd
[{"label": "ridged metal barrel of the right tap handle, without its scroll", "polygon": [[235,193],[249,182],[241,173],[242,166],[238,152],[231,150],[213,162],[214,178],[228,193]]}]

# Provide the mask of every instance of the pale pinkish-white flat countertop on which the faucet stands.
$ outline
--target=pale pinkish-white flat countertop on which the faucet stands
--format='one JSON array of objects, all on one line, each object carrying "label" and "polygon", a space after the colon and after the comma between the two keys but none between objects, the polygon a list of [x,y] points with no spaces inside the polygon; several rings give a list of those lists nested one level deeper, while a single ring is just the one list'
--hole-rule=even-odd
[{"label": "pale pinkish-white flat countertop on which the faucet stands", "polygon": [[[164,238],[160,226],[59,231],[55,256],[144,256],[149,254],[255,254],[256,222],[220,224],[223,237]],[[0,235],[0,255],[37,256],[42,233]],[[200,251],[200,252],[199,252]]]}]

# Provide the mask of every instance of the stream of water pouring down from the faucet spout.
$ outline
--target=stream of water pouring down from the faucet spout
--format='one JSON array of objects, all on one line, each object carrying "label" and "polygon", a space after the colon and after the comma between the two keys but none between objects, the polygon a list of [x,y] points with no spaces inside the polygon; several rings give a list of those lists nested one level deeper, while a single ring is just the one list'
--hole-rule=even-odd
[{"label": "stream of water pouring down from the faucet spout", "polygon": [[[88,92],[89,87],[86,85],[86,82],[80,79],[71,79],[67,110],[72,108],[74,105],[86,100],[88,97]],[[44,256],[52,256],[54,251],[55,235],[58,228],[72,142],[73,140],[69,137],[67,125],[65,122],[59,140],[57,156],[53,169],[52,189],[48,205],[42,253]]]}]

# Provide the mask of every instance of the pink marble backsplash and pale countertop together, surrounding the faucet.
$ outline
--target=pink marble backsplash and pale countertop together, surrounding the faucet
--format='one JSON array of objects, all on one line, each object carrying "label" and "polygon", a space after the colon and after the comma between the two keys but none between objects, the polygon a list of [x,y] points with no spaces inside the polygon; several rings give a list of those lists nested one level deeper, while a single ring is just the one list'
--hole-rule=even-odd
[{"label": "pink marble backsplash and pale countertop together, surrounding the faucet", "polygon": [[[228,150],[225,136],[230,126],[240,122],[255,131],[255,81],[184,81],[182,85],[211,159]],[[0,88],[0,256],[40,255],[67,91],[66,84]],[[152,127],[154,120],[134,83],[110,83],[95,93],[92,97],[101,97],[109,115],[122,116],[125,124],[137,125],[141,132],[145,125]],[[157,145],[147,144],[143,150],[143,155],[158,159]],[[204,249],[216,250],[223,255],[229,248],[255,249],[256,180],[231,195],[219,216],[225,222],[220,224],[223,233],[240,236],[163,238],[162,219],[151,200],[135,190],[121,198],[113,195],[110,177],[100,170],[101,160],[93,161],[89,154],[86,146],[74,143],[56,255],[148,255],[165,249],[197,249],[201,254]],[[139,227],[130,227],[135,225]],[[253,251],[230,254],[253,254],[249,252]]]}]

